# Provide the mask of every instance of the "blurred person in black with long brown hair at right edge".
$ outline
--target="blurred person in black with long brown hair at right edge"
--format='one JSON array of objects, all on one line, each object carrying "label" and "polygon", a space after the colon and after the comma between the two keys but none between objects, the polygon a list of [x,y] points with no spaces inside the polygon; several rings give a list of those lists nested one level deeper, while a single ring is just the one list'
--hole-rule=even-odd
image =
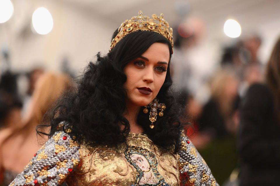
[{"label": "blurred person in black with long brown hair at right edge", "polygon": [[240,186],[279,185],[280,38],[266,66],[265,82],[250,86],[240,109]]}]

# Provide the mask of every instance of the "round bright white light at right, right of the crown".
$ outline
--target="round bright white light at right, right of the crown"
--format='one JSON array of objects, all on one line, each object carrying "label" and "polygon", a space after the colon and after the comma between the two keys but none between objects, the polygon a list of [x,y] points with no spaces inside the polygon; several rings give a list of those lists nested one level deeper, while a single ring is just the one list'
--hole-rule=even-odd
[{"label": "round bright white light at right, right of the crown", "polygon": [[227,20],[224,25],[224,32],[230,38],[237,38],[241,34],[241,26],[235,20]]}]

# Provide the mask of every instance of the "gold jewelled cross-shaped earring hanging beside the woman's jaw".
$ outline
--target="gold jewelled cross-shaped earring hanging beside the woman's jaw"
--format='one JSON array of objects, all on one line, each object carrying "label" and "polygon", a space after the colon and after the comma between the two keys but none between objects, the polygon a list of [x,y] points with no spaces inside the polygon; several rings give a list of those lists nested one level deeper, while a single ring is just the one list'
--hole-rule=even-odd
[{"label": "gold jewelled cross-shaped earring hanging beside the woman's jaw", "polygon": [[158,103],[158,99],[155,98],[153,99],[152,102],[150,102],[149,105],[145,106],[145,109],[143,110],[143,112],[146,114],[148,113],[148,109],[147,107],[150,107],[150,115],[149,115],[149,120],[152,122],[150,124],[150,128],[153,129],[154,126],[154,122],[157,121],[157,109],[160,109],[161,111],[158,113],[159,116],[163,116],[163,111],[164,109],[166,109],[166,106],[164,103]]}]

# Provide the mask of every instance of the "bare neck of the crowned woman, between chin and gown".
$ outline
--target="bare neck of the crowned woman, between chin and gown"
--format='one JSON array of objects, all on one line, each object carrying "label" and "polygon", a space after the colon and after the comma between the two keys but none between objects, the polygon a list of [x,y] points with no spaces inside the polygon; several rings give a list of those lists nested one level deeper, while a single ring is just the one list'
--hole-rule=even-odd
[{"label": "bare neck of the crowned woman, between chin and gown", "polygon": [[124,117],[130,124],[130,133],[141,133],[144,131],[143,128],[136,122],[139,109],[140,107],[127,105],[127,112],[124,113]]}]

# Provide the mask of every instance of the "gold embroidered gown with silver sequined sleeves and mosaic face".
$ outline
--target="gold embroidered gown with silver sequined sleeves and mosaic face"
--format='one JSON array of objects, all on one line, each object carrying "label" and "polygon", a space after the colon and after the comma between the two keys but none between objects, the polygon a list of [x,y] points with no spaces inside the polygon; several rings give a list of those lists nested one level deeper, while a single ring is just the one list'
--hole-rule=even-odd
[{"label": "gold embroidered gown with silver sequined sleeves and mosaic face", "polygon": [[209,167],[185,134],[178,154],[160,148],[145,134],[129,134],[117,147],[78,144],[56,132],[10,186],[127,185],[218,186]]}]

